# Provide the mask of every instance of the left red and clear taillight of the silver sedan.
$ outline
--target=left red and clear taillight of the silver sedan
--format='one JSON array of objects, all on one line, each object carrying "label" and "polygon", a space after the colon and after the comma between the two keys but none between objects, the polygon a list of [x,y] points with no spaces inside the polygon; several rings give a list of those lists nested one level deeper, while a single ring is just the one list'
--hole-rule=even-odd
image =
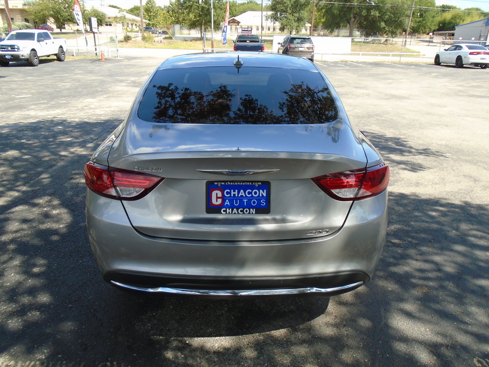
[{"label": "left red and clear taillight of the silver sedan", "polygon": [[107,167],[94,162],[85,165],[85,182],[93,192],[117,200],[138,200],[153,190],[163,177]]}]

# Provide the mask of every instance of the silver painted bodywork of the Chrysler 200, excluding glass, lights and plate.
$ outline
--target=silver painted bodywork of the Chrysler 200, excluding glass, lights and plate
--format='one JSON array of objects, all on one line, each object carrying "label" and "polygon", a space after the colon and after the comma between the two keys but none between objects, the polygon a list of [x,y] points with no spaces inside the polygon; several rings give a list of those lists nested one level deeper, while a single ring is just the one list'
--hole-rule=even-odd
[{"label": "silver painted bodywork of the Chrysler 200, excluding glass, lights and plate", "polygon": [[[304,59],[239,55],[243,68],[256,65],[321,73]],[[235,56],[189,55],[169,59],[158,69],[227,65],[231,57]],[[385,241],[387,190],[355,202],[337,201],[311,178],[371,167],[383,160],[351,126],[339,97],[323,78],[338,108],[338,119],[331,123],[225,125],[139,119],[137,106],[150,76],[124,123],[92,161],[165,179],[135,201],[87,191],[88,234],[102,275],[276,279],[363,272],[371,277]],[[219,173],[247,170],[264,172],[241,177]],[[207,214],[206,181],[222,180],[270,182],[270,213]],[[308,235],[311,231],[318,234]],[[350,289],[348,284],[342,286],[345,292]]]}]

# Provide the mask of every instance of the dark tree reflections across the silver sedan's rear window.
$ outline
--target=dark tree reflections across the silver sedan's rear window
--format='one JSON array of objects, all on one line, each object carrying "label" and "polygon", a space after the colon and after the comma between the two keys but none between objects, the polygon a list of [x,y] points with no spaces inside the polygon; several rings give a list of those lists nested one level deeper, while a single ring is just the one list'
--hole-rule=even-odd
[{"label": "dark tree reflections across the silver sedan's rear window", "polygon": [[[156,88],[156,106],[152,117],[159,123],[318,124],[338,118],[328,88],[311,88],[305,83],[291,84],[289,90],[278,93],[266,93],[261,101],[250,94],[235,100],[236,93],[225,85],[208,93],[179,88],[173,83],[153,88]],[[274,103],[274,98],[279,102]],[[235,110],[233,104],[237,105]]]}]

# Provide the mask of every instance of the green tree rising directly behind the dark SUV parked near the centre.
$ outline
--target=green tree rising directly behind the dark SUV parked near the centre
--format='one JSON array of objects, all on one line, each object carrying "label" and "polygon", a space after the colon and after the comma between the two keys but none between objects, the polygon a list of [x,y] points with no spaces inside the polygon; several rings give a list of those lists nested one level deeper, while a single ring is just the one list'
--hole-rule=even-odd
[{"label": "green tree rising directly behind the dark SUV parked near the centre", "polygon": [[309,4],[309,0],[272,0],[269,18],[280,23],[281,32],[301,33],[309,20]]}]

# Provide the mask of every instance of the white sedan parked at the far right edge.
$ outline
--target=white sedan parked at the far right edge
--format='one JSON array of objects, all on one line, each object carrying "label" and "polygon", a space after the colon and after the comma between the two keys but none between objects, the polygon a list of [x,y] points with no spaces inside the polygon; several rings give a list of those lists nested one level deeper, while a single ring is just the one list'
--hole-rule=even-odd
[{"label": "white sedan parked at the far right edge", "polygon": [[473,65],[486,69],[489,66],[489,50],[484,46],[472,43],[455,44],[439,51],[434,57],[434,64],[454,64],[456,67]]}]

